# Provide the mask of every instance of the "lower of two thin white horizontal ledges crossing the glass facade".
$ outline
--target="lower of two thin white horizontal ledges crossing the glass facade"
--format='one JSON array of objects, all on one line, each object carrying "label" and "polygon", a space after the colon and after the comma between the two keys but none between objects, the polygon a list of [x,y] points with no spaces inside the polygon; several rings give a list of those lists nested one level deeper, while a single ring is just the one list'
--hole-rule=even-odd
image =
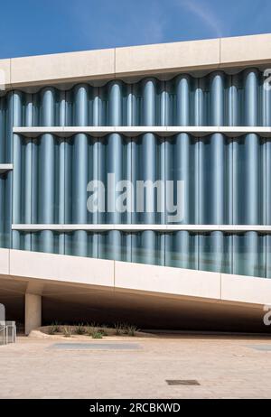
[{"label": "lower of two thin white horizontal ledges crossing the glass facade", "polygon": [[263,232],[271,233],[271,226],[258,226],[258,225],[64,225],[64,224],[16,224],[12,225],[13,230],[23,230],[28,232],[34,232],[38,230],[54,230],[58,232],[71,232],[75,230],[89,230],[103,232],[107,230],[122,230],[126,232],[137,232],[143,230],[157,230],[159,232],[170,232],[178,230],[187,230],[192,232],[210,232],[210,231],[224,231],[224,232]]}]

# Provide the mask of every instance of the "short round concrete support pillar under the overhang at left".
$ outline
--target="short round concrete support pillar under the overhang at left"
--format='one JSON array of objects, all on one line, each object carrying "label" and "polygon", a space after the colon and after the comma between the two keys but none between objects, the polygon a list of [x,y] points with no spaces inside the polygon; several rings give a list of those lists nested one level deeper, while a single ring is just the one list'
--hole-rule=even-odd
[{"label": "short round concrete support pillar under the overhang at left", "polygon": [[42,326],[42,296],[26,292],[24,301],[24,332]]}]

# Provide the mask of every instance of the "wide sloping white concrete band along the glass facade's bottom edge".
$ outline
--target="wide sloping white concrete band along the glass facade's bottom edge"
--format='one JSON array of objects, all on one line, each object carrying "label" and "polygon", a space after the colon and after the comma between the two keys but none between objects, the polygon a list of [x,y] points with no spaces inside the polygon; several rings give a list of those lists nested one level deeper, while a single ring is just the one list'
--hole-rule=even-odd
[{"label": "wide sloping white concrete band along the glass facade's bottom edge", "polygon": [[271,279],[70,255],[0,249],[0,274],[35,283],[76,283],[163,293],[165,297],[271,304]]}]

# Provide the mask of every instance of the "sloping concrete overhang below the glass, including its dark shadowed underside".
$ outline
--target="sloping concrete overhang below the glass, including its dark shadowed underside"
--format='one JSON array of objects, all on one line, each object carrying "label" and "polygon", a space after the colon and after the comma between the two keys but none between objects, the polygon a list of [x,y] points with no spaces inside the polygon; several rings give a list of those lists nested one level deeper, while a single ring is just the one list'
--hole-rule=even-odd
[{"label": "sloping concrete overhang below the glass, including its dark shadowed underside", "polygon": [[26,292],[42,295],[51,321],[87,312],[174,329],[267,332],[263,307],[271,304],[268,279],[0,249],[0,302],[23,303]]}]

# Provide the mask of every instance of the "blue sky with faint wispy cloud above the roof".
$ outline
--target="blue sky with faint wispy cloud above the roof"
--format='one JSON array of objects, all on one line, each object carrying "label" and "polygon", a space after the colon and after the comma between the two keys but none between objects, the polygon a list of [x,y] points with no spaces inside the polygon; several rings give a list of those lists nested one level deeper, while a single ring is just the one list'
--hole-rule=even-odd
[{"label": "blue sky with faint wispy cloud above the roof", "polygon": [[0,0],[0,58],[265,32],[270,0]]}]

